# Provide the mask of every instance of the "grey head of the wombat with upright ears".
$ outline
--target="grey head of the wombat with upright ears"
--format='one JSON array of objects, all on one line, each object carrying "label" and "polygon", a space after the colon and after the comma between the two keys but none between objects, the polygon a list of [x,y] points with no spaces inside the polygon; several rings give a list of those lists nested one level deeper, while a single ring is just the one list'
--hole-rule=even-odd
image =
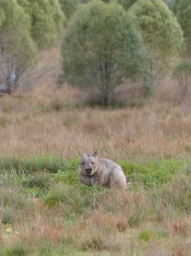
[{"label": "grey head of the wombat with upright ears", "polygon": [[93,175],[98,170],[97,152],[94,154],[82,154],[79,152],[80,172],[85,175]]}]

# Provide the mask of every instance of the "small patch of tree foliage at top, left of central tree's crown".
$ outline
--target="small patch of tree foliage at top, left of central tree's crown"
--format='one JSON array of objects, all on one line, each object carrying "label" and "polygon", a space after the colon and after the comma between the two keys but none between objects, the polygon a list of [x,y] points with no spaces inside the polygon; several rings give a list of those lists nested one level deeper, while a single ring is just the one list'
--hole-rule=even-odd
[{"label": "small patch of tree foliage at top, left of central tree's crown", "polygon": [[61,4],[63,13],[65,13],[67,16],[67,19],[69,19],[74,14],[78,4],[80,3],[78,0],[59,0],[59,2]]}]

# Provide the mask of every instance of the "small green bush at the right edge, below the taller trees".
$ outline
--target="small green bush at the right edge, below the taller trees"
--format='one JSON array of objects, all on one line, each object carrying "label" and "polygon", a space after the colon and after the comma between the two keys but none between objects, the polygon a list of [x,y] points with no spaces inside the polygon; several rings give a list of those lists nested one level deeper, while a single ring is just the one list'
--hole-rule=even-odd
[{"label": "small green bush at the right edge, below the taller trees", "polygon": [[191,61],[180,62],[174,68],[173,76],[177,79],[180,96],[185,99],[191,86]]}]

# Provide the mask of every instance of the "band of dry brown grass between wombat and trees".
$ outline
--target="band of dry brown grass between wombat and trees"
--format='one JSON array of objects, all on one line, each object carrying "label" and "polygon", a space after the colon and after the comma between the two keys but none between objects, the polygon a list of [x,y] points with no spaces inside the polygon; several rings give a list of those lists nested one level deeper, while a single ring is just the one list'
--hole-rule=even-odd
[{"label": "band of dry brown grass between wombat and trees", "polygon": [[190,156],[190,103],[177,103],[168,80],[142,108],[101,109],[84,107],[84,92],[68,84],[57,89],[56,73],[32,91],[0,99],[1,154],[72,158],[98,149],[114,160]]}]

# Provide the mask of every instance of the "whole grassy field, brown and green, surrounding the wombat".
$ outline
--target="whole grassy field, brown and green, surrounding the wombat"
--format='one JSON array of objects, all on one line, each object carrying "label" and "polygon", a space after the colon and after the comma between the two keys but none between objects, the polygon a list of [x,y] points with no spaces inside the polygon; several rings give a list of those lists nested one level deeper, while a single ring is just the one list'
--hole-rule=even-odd
[{"label": "whole grassy field, brown and green, surrounding the wombat", "polygon": [[[90,107],[56,88],[56,56],[33,90],[0,98],[0,255],[190,255],[190,97],[165,79],[142,104]],[[78,184],[78,150],[96,149],[126,191]]]}]

